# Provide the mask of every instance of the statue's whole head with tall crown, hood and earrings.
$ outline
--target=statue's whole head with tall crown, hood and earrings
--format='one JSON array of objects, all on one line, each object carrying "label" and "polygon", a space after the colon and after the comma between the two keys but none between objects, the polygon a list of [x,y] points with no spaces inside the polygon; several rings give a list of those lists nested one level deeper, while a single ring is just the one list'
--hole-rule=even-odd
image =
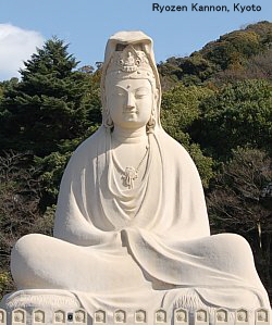
[{"label": "statue's whole head with tall crown, hood and earrings", "polygon": [[152,40],[141,32],[121,32],[107,45],[101,78],[103,125],[160,126],[161,88]]}]

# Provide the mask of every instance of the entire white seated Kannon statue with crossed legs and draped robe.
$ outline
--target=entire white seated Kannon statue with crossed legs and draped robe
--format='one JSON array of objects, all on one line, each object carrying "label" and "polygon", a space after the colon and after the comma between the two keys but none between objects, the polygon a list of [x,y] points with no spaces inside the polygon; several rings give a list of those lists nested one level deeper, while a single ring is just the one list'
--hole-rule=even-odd
[{"label": "entire white seated Kannon statue with crossed legs and draped robe", "polygon": [[13,248],[17,292],[65,291],[89,313],[269,308],[248,242],[210,236],[197,168],[161,127],[148,36],[109,39],[101,97],[103,124],[64,172],[54,237],[27,235]]}]

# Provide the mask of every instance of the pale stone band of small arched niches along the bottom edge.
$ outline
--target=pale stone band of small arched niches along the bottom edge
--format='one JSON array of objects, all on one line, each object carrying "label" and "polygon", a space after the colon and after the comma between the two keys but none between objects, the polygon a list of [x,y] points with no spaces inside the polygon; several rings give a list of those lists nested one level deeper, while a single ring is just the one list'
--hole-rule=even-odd
[{"label": "pale stone band of small arched niches along the bottom edge", "polygon": [[[133,310],[116,310],[113,314],[107,313],[104,310],[97,310],[90,315],[90,324],[172,324],[172,325],[270,325],[270,310],[257,309],[246,310],[238,309],[231,311],[226,309],[209,310],[199,309],[197,311],[186,309],[174,309],[172,313],[163,310],[157,310],[152,315],[147,316],[144,309]],[[87,322],[87,312],[84,309],[77,309],[74,312],[71,310],[65,312],[57,310],[53,313],[44,310],[34,310],[28,314],[23,309],[12,311],[12,322],[7,322],[4,310],[0,310],[0,324],[14,325],[41,325],[41,324],[78,324],[85,325]],[[69,317],[72,315],[73,317]],[[92,317],[94,316],[94,317]],[[113,316],[113,318],[111,318]],[[214,318],[213,318],[214,317]],[[92,318],[92,321],[91,321]]]}]

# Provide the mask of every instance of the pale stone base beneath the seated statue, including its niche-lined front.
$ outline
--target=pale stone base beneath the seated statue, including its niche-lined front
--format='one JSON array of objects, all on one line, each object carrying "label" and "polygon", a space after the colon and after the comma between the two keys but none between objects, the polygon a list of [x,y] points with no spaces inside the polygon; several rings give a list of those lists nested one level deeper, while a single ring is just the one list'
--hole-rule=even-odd
[{"label": "pale stone base beneath the seated statue, including its niche-lined front", "polygon": [[[183,290],[182,290],[183,291]],[[184,293],[184,295],[183,295]],[[76,293],[67,290],[18,290],[4,296],[0,304],[1,324],[143,324],[143,325],[269,325],[270,310],[238,308],[230,310],[208,305],[196,290],[186,289],[172,297],[172,303],[154,309],[94,307],[86,310]],[[2,310],[1,310],[2,309]],[[257,317],[260,318],[259,322]],[[1,315],[0,315],[1,316]],[[262,317],[262,318],[261,318]]]}]

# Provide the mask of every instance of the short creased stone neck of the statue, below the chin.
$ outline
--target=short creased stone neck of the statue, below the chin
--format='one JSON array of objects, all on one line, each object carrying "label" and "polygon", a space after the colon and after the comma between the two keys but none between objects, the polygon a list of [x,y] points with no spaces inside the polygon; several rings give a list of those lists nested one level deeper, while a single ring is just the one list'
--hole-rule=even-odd
[{"label": "short creased stone neck of the statue, below the chin", "polygon": [[146,126],[137,129],[127,129],[114,126],[112,138],[121,143],[135,143],[145,141],[147,139]]}]

